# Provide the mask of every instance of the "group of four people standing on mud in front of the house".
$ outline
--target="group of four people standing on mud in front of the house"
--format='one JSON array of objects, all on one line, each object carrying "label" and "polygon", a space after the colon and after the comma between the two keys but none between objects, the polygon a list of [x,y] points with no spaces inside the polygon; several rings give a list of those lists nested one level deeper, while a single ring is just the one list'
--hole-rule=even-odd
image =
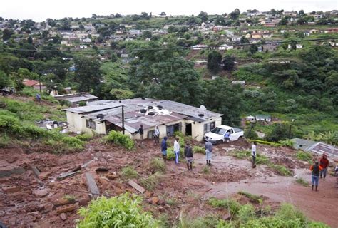
[{"label": "group of four people standing on mud in front of the house", "polygon": [[[163,156],[163,160],[167,160],[167,145],[168,137],[165,136],[160,143],[161,153]],[[180,138],[175,138],[174,142],[174,153],[175,153],[175,164],[178,165],[179,158],[180,158]],[[184,157],[187,163],[188,170],[193,170],[193,147],[190,146],[190,143],[187,142],[184,147]],[[207,165],[211,165],[211,158],[212,158],[212,143],[207,141],[205,142],[205,157],[207,161]]]}]

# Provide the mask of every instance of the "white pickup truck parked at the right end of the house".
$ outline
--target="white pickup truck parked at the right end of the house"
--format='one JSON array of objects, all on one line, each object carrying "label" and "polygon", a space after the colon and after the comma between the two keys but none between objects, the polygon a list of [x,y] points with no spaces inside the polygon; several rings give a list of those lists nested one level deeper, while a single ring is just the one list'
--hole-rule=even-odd
[{"label": "white pickup truck parked at the right end of the house", "polygon": [[230,141],[236,141],[239,138],[242,138],[244,132],[240,128],[232,128],[227,125],[219,125],[218,127],[212,129],[210,132],[205,133],[204,139],[210,140],[212,144],[218,144],[220,142],[225,142],[225,133],[230,133]]}]

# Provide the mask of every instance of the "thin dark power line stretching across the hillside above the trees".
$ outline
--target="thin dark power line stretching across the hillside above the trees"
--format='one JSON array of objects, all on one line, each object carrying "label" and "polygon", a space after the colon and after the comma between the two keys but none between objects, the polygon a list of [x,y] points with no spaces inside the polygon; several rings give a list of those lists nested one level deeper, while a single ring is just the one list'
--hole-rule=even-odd
[{"label": "thin dark power line stretching across the hillside above the trees", "polygon": [[[216,49],[220,47],[240,47],[240,46],[262,46],[267,44],[282,44],[282,43],[303,43],[303,42],[314,42],[314,41],[332,41],[337,40],[338,37],[329,37],[329,38],[313,38],[313,39],[299,39],[293,41],[266,41],[264,43],[240,43],[240,44],[224,44],[224,45],[215,45],[215,46],[198,46],[198,47],[170,47],[170,48],[133,48],[129,49],[130,51],[167,51],[167,50],[208,50],[208,49]],[[120,49],[98,49],[98,50],[39,50],[39,49],[21,49],[21,48],[6,48],[4,51],[37,51],[37,52],[78,52],[78,53],[86,53],[86,52],[95,52],[95,51],[121,51]]]}]

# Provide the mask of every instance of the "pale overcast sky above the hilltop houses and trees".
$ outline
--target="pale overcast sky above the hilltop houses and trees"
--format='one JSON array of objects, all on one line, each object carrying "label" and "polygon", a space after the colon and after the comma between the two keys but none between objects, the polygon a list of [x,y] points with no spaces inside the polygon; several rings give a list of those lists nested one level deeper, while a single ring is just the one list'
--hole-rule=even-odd
[{"label": "pale overcast sky above the hilltop houses and trees", "polygon": [[338,9],[338,0],[9,0],[1,1],[0,16],[6,19],[33,19],[44,21],[47,18],[61,19],[63,17],[90,17],[92,14],[140,14],[152,12],[159,14],[165,11],[167,15],[197,15],[200,11],[208,14],[223,14],[247,9],[260,11],[284,9],[285,11],[304,9],[307,11],[330,11]]}]

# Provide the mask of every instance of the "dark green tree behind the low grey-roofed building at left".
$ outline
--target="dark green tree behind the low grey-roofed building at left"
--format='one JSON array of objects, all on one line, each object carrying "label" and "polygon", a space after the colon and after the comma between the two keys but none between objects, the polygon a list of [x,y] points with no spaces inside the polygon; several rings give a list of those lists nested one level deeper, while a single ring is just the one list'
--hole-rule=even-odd
[{"label": "dark green tree behind the low grey-roofed building at left", "polygon": [[102,78],[100,63],[92,58],[76,58],[74,60],[76,68],[76,81],[80,92],[91,92],[100,86]]}]

